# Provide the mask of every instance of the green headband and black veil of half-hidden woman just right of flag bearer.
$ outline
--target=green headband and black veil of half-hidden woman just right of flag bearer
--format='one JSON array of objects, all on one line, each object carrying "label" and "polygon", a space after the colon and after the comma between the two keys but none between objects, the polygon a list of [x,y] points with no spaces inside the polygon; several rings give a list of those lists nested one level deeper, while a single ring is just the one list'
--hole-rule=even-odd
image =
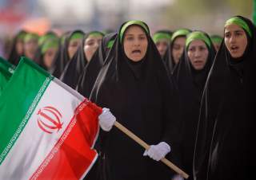
[{"label": "green headband and black veil of half-hidden woman just right of flag bearer", "polygon": [[166,50],[165,56],[163,57],[163,61],[166,64],[167,70],[170,74],[173,73],[174,68],[176,67],[176,65],[174,63],[174,57],[172,55],[174,41],[177,37],[186,37],[186,35],[190,32],[191,32],[190,29],[178,29],[178,30],[174,31],[174,33],[172,34],[172,37],[170,40],[170,45]]}]

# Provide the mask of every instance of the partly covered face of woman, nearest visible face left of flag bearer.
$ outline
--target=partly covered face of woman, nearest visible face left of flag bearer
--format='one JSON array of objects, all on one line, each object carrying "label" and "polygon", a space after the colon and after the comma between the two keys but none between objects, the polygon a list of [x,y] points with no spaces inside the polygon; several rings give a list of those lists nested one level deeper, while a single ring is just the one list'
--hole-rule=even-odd
[{"label": "partly covered face of woman, nearest visible face left of flag bearer", "polygon": [[101,41],[102,41],[102,36],[90,35],[89,37],[86,38],[83,50],[84,50],[87,61],[91,60],[91,57],[93,57]]}]

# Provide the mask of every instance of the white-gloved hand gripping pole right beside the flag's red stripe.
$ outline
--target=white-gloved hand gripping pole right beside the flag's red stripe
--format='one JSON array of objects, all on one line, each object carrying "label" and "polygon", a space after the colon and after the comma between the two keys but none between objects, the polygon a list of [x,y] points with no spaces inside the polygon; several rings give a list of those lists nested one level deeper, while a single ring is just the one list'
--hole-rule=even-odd
[{"label": "white-gloved hand gripping pole right beside the flag's red stripe", "polygon": [[98,115],[99,125],[104,131],[110,131],[116,121],[114,115],[110,112],[110,109],[103,108],[102,114]]}]

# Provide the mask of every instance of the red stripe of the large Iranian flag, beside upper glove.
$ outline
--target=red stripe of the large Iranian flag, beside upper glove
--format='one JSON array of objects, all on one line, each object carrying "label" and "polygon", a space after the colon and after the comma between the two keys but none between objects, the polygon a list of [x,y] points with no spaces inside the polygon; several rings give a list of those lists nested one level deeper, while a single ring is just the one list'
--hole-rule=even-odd
[{"label": "red stripe of the large Iranian flag, beside upper glove", "polygon": [[79,179],[89,171],[97,152],[91,149],[98,135],[98,108],[84,100],[54,148],[30,179]]}]

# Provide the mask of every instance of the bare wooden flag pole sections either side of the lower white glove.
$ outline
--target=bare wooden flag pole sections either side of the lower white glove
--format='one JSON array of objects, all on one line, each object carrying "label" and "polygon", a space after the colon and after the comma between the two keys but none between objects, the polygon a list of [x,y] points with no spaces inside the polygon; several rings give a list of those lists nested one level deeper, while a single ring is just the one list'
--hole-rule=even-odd
[{"label": "bare wooden flag pole sections either side of the lower white glove", "polygon": [[[138,138],[137,135],[134,135],[130,130],[128,130],[126,127],[122,126],[121,123],[118,123],[118,121],[114,122],[114,126],[118,127],[119,130],[124,132],[126,135],[128,135],[131,139],[134,139],[138,144],[140,144],[142,147],[144,147],[146,150],[150,149],[150,146],[145,143],[142,139]],[[178,166],[175,166],[174,163],[170,162],[166,158],[162,158],[161,161],[165,163],[167,166],[169,166],[172,170],[174,170],[176,173],[180,174],[183,178],[189,178],[189,175],[186,174],[183,170],[179,169]]]}]

